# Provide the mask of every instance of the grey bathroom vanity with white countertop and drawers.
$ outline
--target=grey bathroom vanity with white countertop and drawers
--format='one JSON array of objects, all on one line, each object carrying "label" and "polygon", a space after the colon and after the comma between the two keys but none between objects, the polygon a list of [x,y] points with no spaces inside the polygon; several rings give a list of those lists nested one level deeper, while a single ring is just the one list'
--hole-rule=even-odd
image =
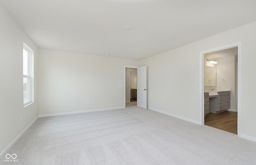
[{"label": "grey bathroom vanity with white countertop and drawers", "polygon": [[230,109],[230,91],[204,91],[204,114]]}]

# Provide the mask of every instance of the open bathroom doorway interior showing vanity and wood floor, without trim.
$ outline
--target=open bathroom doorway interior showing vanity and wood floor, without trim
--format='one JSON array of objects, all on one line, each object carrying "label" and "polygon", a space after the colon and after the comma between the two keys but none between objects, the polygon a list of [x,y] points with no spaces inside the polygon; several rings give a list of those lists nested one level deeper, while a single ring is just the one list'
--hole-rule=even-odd
[{"label": "open bathroom doorway interior showing vanity and wood floor, without trim", "polygon": [[238,46],[204,54],[204,125],[234,134],[238,121]]}]

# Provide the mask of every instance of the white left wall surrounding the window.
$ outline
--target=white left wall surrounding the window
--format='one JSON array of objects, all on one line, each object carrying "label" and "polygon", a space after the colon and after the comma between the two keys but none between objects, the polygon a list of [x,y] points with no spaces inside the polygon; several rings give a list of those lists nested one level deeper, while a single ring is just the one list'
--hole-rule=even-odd
[{"label": "white left wall surrounding the window", "polygon": [[[6,147],[38,117],[38,50],[1,5],[0,20],[0,153],[3,154]],[[23,42],[34,50],[34,103],[25,108]]]}]

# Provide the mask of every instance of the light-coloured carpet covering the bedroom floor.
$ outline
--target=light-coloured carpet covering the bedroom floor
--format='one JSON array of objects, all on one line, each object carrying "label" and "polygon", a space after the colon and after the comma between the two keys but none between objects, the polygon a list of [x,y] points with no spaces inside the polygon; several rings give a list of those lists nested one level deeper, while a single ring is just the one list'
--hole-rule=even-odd
[{"label": "light-coloured carpet covering the bedroom floor", "polygon": [[[129,103],[39,118],[8,151],[21,165],[252,165],[256,143]],[[135,104],[136,105],[136,104]]]}]

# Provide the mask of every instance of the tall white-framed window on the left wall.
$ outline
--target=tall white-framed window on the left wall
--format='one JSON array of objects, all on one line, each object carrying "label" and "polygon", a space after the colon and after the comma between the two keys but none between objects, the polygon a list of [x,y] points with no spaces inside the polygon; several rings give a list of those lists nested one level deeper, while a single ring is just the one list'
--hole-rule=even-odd
[{"label": "tall white-framed window on the left wall", "polygon": [[23,44],[23,103],[28,105],[32,103],[33,82],[32,82],[32,55],[31,50],[26,44]]}]

